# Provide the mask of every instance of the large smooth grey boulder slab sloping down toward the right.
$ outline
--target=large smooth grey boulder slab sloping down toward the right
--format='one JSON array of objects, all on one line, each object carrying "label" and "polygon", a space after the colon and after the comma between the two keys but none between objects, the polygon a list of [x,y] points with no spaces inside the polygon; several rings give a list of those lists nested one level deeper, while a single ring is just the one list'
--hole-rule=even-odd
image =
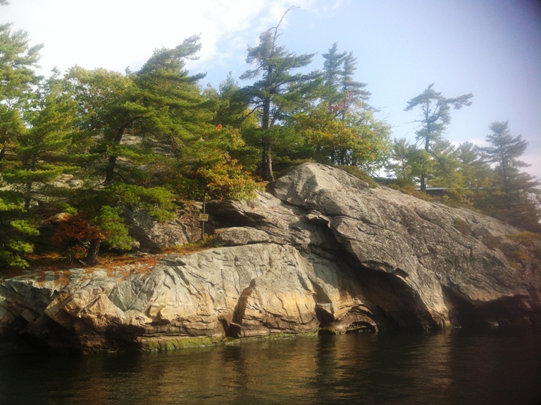
[{"label": "large smooth grey boulder slab sloping down toward the right", "polygon": [[[373,277],[373,270],[400,280],[428,311],[425,326],[464,324],[480,315],[473,308],[490,312],[502,302],[525,309],[539,306],[539,263],[529,274],[518,271],[502,250],[486,243],[499,241],[503,249],[506,237],[518,233],[497,219],[390,188],[368,188],[344,171],[315,164],[301,165],[279,179],[275,195],[328,219],[360,277]],[[516,321],[516,310],[511,312]],[[491,316],[505,322],[506,311]]]}]

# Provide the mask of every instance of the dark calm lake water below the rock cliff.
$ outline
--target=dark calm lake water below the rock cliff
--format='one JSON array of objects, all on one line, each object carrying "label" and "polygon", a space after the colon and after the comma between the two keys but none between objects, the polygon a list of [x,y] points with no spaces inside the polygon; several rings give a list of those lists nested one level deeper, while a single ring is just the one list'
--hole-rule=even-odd
[{"label": "dark calm lake water below the rock cliff", "polygon": [[541,332],[261,339],[0,357],[0,404],[540,404]]}]

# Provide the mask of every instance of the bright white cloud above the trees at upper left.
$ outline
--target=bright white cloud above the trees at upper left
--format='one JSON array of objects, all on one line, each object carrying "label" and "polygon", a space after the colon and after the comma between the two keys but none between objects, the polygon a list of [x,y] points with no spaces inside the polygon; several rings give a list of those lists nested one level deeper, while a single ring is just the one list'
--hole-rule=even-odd
[{"label": "bright white cloud above the trees at upper left", "polygon": [[[278,23],[287,0],[13,0],[2,20],[16,20],[32,43],[43,42],[42,68],[78,64],[123,72],[137,70],[154,49],[175,47],[201,35],[199,61],[192,66],[225,66],[259,33]],[[311,8],[313,0],[297,1]],[[287,19],[284,21],[287,25]]]}]

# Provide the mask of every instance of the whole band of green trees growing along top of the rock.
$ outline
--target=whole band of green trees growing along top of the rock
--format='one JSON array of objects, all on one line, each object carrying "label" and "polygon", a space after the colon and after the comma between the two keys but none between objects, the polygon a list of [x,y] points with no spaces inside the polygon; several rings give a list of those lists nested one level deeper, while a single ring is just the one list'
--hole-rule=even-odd
[{"label": "whole band of green trees growing along top of the rock", "polygon": [[[0,5],[8,4],[0,0]],[[175,217],[185,199],[251,198],[275,166],[312,160],[377,174],[402,186],[427,184],[447,198],[539,231],[540,182],[520,169],[527,143],[506,121],[490,125],[488,147],[443,137],[450,110],[471,94],[443,97],[428,86],[406,104],[420,109],[417,141],[391,128],[355,80],[357,59],[337,42],[311,70],[315,53],[283,44],[278,24],[247,47],[249,68],[218,89],[191,74],[199,36],[151,54],[135,72],[73,66],[37,75],[41,44],[0,25],[0,263],[25,267],[40,230],[87,264],[102,247],[130,250],[126,217]],[[362,66],[361,66],[362,67]]]}]

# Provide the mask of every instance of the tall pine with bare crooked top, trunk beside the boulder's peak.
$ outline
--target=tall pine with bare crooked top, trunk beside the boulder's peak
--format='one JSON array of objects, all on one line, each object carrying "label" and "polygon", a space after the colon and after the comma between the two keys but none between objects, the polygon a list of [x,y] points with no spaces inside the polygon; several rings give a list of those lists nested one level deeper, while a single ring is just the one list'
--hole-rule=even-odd
[{"label": "tall pine with bare crooked top, trunk beside the boulder's peak", "polygon": [[[288,10],[290,11],[291,8]],[[259,36],[259,45],[248,47],[247,63],[254,68],[246,71],[241,79],[261,79],[243,88],[244,97],[251,106],[249,114],[258,114],[260,129],[252,133],[252,142],[261,148],[261,177],[274,181],[273,145],[280,139],[282,131],[270,131],[280,126],[295,111],[309,106],[316,97],[314,92],[321,87],[321,74],[312,72],[291,73],[311,63],[313,54],[298,55],[278,45],[280,25],[266,30]]]}]

